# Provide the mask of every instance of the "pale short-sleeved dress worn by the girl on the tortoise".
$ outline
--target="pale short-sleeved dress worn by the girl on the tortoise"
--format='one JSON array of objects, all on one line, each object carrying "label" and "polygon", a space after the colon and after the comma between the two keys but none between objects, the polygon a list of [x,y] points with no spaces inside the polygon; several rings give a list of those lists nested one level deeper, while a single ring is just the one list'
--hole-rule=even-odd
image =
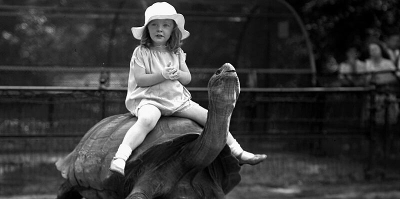
[{"label": "pale short-sleeved dress worn by the girl on the tortoise", "polygon": [[146,73],[160,73],[169,62],[172,67],[180,69],[179,66],[185,59],[186,54],[180,48],[177,53],[172,53],[166,46],[137,46],[130,59],[126,108],[133,115],[137,115],[141,106],[152,104],[158,107],[162,115],[171,115],[197,104],[191,100],[190,92],[178,80],[166,79],[155,85],[140,87],[137,86],[133,75],[134,66],[144,68]]}]

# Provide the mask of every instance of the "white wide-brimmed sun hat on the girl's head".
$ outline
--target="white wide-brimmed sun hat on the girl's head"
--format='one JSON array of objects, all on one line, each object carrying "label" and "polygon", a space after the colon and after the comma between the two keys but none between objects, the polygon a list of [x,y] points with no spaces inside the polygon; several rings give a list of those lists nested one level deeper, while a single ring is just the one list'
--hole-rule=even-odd
[{"label": "white wide-brimmed sun hat on the girl's head", "polygon": [[182,39],[185,39],[189,36],[190,33],[184,29],[183,15],[176,13],[175,8],[167,2],[156,2],[147,7],[146,11],[144,12],[144,25],[141,27],[131,28],[133,36],[136,39],[141,39],[143,30],[148,22],[150,22],[153,19],[165,19],[165,18],[173,19],[176,22],[180,32],[182,33]]}]

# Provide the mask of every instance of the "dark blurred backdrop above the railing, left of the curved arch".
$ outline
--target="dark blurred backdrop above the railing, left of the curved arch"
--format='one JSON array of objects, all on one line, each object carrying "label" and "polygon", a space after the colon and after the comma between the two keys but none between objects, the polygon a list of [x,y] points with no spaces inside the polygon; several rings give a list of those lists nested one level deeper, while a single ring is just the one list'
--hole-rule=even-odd
[{"label": "dark blurred backdrop above the railing, left of the curved arch", "polygon": [[[153,2],[0,0],[0,22],[4,24],[0,61],[21,65],[126,66],[138,44],[130,27],[142,25],[145,7]],[[169,2],[185,16],[185,27],[191,32],[183,46],[191,65],[229,61],[243,67],[265,67],[268,63],[273,63],[268,67],[288,67],[288,62],[294,65],[300,61],[309,66],[298,24],[279,1]],[[293,28],[291,35],[280,38],[284,42],[276,42],[276,33],[270,32],[276,32],[276,23],[281,21]],[[270,46],[279,47],[280,51],[269,50]],[[293,53],[292,49],[297,50]],[[293,58],[284,62],[278,59],[278,52],[283,50]]]}]

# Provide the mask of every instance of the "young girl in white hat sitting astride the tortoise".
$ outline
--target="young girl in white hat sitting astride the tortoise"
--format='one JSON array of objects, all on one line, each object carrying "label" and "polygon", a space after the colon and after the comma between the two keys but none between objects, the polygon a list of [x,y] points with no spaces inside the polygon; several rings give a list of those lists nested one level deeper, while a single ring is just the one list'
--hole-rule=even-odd
[{"label": "young girl in white hat sitting astride the tortoise", "polygon": [[[201,125],[207,119],[207,110],[193,102],[183,86],[191,80],[186,54],[180,48],[181,40],[189,36],[183,15],[166,2],[156,2],[146,9],[144,17],[143,26],[131,28],[140,45],[130,60],[125,100],[137,121],[126,132],[109,168],[122,175],[132,149],[141,144],[161,115],[190,118]],[[226,143],[240,164],[254,165],[266,158],[265,154],[244,151],[230,132]]]}]

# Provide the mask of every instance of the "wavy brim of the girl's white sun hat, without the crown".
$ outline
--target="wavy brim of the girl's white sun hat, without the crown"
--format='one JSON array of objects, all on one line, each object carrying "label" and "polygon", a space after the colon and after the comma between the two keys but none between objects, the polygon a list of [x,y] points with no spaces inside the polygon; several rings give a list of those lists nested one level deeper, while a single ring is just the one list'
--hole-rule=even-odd
[{"label": "wavy brim of the girl's white sun hat, without the crown", "polygon": [[143,30],[146,27],[147,23],[150,22],[153,19],[172,19],[176,22],[178,29],[182,33],[182,39],[185,39],[189,36],[189,32],[184,29],[184,17],[182,14],[172,14],[172,15],[154,15],[151,16],[146,23],[144,23],[143,26],[140,27],[132,27],[130,28],[132,30],[133,37],[136,39],[141,39],[141,35],[143,34]]}]

